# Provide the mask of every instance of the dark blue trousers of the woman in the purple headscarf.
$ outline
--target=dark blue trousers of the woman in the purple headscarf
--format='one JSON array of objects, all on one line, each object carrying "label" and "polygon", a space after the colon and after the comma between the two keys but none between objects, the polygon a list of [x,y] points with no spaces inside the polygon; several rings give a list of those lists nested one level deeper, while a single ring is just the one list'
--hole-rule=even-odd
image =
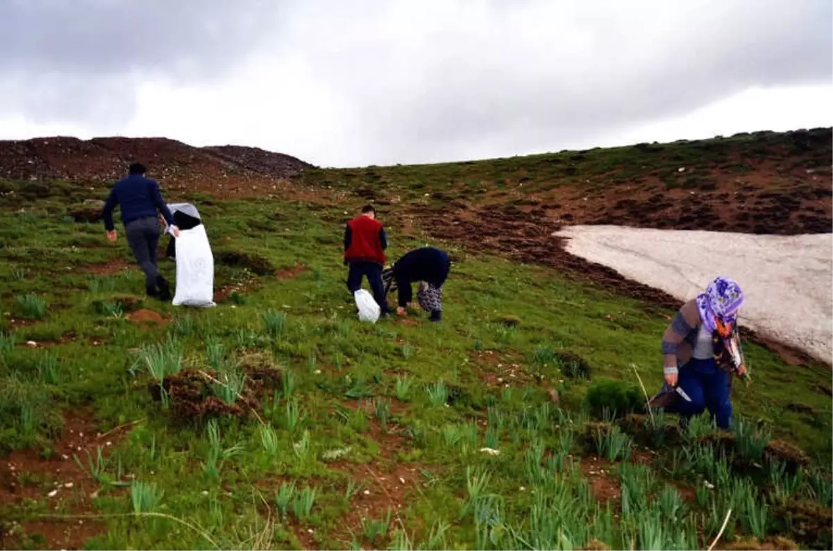
[{"label": "dark blue trousers of the woman in the purple headscarf", "polygon": [[677,385],[691,398],[691,402],[679,400],[671,413],[680,414],[686,420],[709,410],[717,426],[728,430],[731,426],[732,408],[729,400],[729,373],[717,367],[715,360],[691,359],[680,368]]}]

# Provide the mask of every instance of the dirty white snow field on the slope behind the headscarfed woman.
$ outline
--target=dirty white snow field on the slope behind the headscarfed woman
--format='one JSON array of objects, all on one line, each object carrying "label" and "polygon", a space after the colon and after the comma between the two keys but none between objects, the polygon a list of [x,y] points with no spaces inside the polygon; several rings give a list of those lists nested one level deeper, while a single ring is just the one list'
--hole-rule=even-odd
[{"label": "dirty white snow field on the slope behind the headscarfed woman", "polygon": [[741,285],[741,324],[833,365],[833,234],[569,226],[566,251],[684,300],[715,276]]}]

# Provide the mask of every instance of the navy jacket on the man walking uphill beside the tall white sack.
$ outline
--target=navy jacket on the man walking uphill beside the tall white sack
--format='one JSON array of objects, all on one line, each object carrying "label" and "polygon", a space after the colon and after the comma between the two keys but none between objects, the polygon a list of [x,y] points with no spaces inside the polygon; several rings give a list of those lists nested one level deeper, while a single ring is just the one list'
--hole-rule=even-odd
[{"label": "navy jacket on the man walking uphill beside the tall white sack", "polygon": [[144,176],[132,174],[122,178],[112,186],[110,196],[104,202],[104,227],[107,231],[113,230],[112,210],[116,206],[122,211],[122,224],[127,225],[139,218],[156,217],[157,212],[162,212],[165,221],[174,225],[171,210],[167,208],[162,199],[162,191],[159,191],[157,181]]}]

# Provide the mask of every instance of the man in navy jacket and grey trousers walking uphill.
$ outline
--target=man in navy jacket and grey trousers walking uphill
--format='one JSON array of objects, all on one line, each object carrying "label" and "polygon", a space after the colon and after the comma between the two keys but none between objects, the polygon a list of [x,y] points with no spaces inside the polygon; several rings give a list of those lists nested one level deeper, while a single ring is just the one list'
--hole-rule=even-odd
[{"label": "man in navy jacket and grey trousers walking uphill", "polygon": [[159,213],[165,218],[174,237],[179,236],[179,229],[173,224],[173,216],[162,199],[159,184],[145,177],[147,170],[139,163],[133,163],[128,169],[128,176],[112,186],[110,196],[104,203],[104,228],[107,239],[115,243],[116,229],[112,223],[112,210],[118,205],[122,211],[122,223],[127,243],[133,256],[145,273],[145,290],[148,296],[158,296],[162,300],[171,299],[171,286],[162,277],[157,267],[157,248],[162,231],[159,228]]}]

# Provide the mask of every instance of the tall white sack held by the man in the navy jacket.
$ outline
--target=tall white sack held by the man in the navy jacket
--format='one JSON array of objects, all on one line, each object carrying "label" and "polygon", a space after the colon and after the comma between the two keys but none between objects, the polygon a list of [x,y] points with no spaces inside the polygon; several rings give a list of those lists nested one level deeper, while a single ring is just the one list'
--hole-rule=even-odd
[{"label": "tall white sack held by the man in the navy jacket", "polygon": [[214,302],[214,255],[205,226],[179,231],[177,237],[177,292],[174,306],[216,306]]}]

